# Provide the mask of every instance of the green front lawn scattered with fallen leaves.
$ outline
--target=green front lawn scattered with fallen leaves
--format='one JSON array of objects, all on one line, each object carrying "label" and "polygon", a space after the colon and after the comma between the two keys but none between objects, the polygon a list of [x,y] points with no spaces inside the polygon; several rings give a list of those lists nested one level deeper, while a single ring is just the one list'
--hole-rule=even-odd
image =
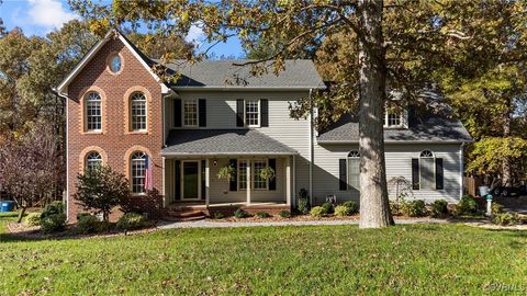
[{"label": "green front lawn scattered with fallen leaves", "polygon": [[527,232],[460,225],[172,229],[0,243],[2,295],[486,294],[527,288]]}]

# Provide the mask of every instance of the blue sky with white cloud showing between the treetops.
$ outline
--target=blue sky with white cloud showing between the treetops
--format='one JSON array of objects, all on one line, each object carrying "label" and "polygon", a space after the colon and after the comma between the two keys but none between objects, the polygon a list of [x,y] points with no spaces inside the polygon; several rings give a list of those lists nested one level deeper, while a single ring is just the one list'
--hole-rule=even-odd
[{"label": "blue sky with white cloud showing between the treetops", "polygon": [[[60,29],[64,23],[79,19],[71,12],[66,0],[2,0],[0,4],[0,19],[8,30],[19,26],[25,35],[45,36],[55,29]],[[186,38],[204,50],[208,44],[203,42],[201,31],[194,26]],[[242,46],[237,38],[214,46],[211,50],[215,57],[243,56]]]}]

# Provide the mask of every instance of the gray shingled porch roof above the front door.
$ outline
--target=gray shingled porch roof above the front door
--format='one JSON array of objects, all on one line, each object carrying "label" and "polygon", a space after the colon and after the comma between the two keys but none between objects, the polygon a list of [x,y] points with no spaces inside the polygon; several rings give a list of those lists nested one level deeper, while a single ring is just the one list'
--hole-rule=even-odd
[{"label": "gray shingled porch roof above the front door", "polygon": [[296,155],[255,129],[172,129],[161,155]]}]

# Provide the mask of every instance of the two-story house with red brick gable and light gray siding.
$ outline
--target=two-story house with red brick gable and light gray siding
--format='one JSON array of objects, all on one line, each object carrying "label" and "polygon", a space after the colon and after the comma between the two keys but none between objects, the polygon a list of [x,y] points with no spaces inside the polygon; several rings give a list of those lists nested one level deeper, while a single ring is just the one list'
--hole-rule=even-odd
[{"label": "two-story house with red brick gable and light gray siding", "polygon": [[[359,197],[358,124],[343,118],[317,134],[312,116],[290,117],[290,103],[325,88],[311,60],[288,60],[279,76],[253,77],[228,60],[166,65],[165,83],[116,31],[101,39],[58,86],[67,101],[68,218],[77,174],[94,166],[123,172],[145,212],[243,206],[285,209],[300,189],[321,203]],[[462,194],[462,144],[456,119],[386,114],[389,178],[413,182],[415,197],[455,202]],[[218,178],[231,168],[232,178]],[[271,168],[274,178],[262,178]],[[159,197],[146,195],[148,189]]]}]

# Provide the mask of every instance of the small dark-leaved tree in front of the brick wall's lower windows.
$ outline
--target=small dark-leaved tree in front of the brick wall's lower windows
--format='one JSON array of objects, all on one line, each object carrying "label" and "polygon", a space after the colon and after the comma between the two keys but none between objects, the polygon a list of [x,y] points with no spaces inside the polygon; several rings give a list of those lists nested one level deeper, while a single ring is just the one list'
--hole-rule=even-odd
[{"label": "small dark-leaved tree in front of the brick wall's lower windows", "polygon": [[103,220],[108,221],[112,209],[130,200],[130,183],[124,174],[110,167],[87,170],[78,175],[74,197],[86,210],[102,214]]}]

